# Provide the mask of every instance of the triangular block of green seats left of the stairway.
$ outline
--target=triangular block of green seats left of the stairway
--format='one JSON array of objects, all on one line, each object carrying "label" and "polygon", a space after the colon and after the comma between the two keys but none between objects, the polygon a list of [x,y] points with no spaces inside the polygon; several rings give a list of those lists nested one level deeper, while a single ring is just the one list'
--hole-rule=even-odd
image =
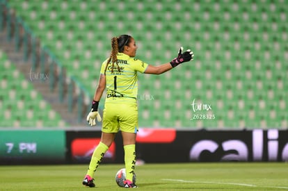
[{"label": "triangular block of green seats left of the stairway", "polygon": [[[33,89],[29,79],[17,70],[0,50],[0,127],[63,127],[67,124],[49,103]],[[49,115],[52,113],[52,115]],[[41,122],[42,121],[42,122]]]}]

